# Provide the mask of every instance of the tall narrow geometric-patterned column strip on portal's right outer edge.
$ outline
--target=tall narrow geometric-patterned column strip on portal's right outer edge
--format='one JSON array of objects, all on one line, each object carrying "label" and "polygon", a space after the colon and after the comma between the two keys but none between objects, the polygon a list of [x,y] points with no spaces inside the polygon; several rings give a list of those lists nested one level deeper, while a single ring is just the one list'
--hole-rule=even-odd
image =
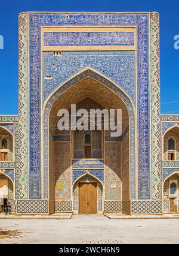
[{"label": "tall narrow geometric-patterned column strip on portal's right outer edge", "polygon": [[151,13],[150,24],[150,80],[152,121],[152,199],[162,198],[161,171],[161,109],[160,109],[160,64],[159,64],[159,14]]}]

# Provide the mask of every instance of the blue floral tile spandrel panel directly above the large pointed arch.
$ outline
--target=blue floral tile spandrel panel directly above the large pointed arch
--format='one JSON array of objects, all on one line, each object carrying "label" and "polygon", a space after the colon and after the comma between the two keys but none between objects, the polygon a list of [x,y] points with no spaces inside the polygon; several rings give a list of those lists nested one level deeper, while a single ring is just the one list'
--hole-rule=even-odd
[{"label": "blue floral tile spandrel panel directly above the large pointed arch", "polygon": [[91,67],[123,88],[135,104],[135,52],[44,52],[43,62],[44,77],[53,77],[44,79],[44,101],[61,83]]}]

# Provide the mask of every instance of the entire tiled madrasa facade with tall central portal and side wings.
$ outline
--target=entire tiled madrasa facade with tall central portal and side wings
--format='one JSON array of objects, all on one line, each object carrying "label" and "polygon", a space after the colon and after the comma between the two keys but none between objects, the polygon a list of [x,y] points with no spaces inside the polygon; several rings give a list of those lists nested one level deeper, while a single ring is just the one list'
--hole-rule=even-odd
[{"label": "entire tiled madrasa facade with tall central portal and side wings", "polygon": [[[18,21],[18,115],[0,116],[1,212],[7,200],[27,215],[178,212],[179,115],[160,110],[159,14]],[[121,109],[121,134],[58,129],[72,104]]]}]

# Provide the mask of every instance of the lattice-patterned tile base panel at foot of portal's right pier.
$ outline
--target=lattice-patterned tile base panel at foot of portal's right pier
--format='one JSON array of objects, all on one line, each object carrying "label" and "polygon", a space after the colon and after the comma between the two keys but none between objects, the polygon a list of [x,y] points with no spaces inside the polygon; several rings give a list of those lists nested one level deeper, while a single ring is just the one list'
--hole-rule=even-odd
[{"label": "lattice-patterned tile base panel at foot of portal's right pier", "polygon": [[132,201],[132,213],[147,214],[147,213],[162,213],[162,201],[144,200]]}]

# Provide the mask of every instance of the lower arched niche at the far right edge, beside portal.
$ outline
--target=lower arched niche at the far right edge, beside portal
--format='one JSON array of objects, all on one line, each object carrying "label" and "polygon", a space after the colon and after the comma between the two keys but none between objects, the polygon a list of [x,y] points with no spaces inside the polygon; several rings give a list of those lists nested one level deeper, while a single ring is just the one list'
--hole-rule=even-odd
[{"label": "lower arched niche at the far right edge, beside portal", "polygon": [[172,173],[163,182],[163,200],[165,213],[179,212],[179,172]]}]

